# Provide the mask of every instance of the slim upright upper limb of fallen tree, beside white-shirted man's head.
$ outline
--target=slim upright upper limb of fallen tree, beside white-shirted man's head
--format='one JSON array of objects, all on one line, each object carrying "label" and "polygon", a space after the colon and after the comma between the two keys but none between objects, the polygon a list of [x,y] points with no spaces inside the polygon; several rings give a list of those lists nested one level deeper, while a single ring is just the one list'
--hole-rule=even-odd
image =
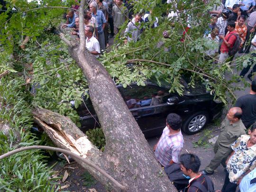
[{"label": "slim upright upper limb of fallen tree, beside white-shirted man's head", "polygon": [[84,53],[85,50],[85,34],[84,34],[84,18],[83,18],[83,9],[85,5],[85,0],[81,0],[81,4],[79,7],[79,38],[80,38],[80,47],[79,49]]}]

